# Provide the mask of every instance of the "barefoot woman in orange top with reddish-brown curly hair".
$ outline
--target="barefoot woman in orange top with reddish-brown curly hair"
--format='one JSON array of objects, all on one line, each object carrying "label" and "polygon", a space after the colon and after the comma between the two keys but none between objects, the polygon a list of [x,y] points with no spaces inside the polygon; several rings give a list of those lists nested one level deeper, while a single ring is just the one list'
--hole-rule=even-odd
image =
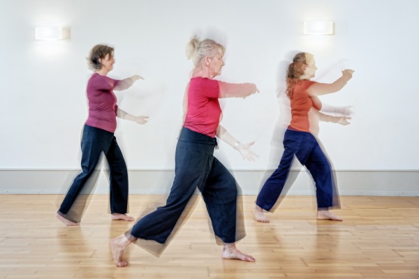
[{"label": "barefoot woman in orange top with reddish-brown curly hair", "polygon": [[[313,82],[317,67],[313,55],[307,52],[296,54],[288,66],[286,94],[291,100],[291,123],[284,135],[284,154],[279,167],[263,185],[256,199],[253,215],[259,222],[269,222],[263,210],[270,211],[284,188],[294,156],[305,165],[316,183],[317,218],[338,220],[341,218],[329,211],[330,206],[338,206],[334,194],[334,181],[330,163],[321,150],[310,127],[310,114],[321,110],[318,96],[334,93],[351,80],[353,70],[343,70],[342,76],[332,84]],[[342,116],[338,122],[345,122]],[[315,133],[314,133],[315,134]]]}]

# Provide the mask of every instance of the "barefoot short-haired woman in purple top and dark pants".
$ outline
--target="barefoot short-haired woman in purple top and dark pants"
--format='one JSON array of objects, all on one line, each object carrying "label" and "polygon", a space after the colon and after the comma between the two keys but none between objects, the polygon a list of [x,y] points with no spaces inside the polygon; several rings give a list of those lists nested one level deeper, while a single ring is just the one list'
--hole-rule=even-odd
[{"label": "barefoot short-haired woman in purple top and dark pants", "polygon": [[[124,156],[119,149],[114,132],[117,128],[116,117],[135,121],[139,124],[147,122],[147,116],[133,116],[119,109],[113,90],[128,89],[139,75],[125,80],[113,80],[107,77],[113,68],[114,49],[107,45],[96,45],[90,53],[89,65],[95,70],[87,84],[89,100],[89,117],[84,125],[82,135],[82,173],[73,181],[57,218],[67,226],[79,225],[83,208],[72,208],[85,183],[98,165],[101,153],[105,154],[110,168],[110,211],[112,220],[133,221],[126,216],[128,208],[128,172]],[[83,207],[83,206],[82,206]]]}]

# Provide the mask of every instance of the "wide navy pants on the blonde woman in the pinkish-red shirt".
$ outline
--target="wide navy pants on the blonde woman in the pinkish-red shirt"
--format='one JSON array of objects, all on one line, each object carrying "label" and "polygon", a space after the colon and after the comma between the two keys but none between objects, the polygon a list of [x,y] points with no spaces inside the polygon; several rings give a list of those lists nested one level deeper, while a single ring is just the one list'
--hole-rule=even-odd
[{"label": "wide navy pants on the blonde woman in the pinkish-red shirt", "polygon": [[176,147],[175,180],[165,206],[144,216],[131,235],[165,243],[196,188],[203,195],[214,234],[224,243],[236,239],[237,183],[214,156],[216,139],[182,128]]}]

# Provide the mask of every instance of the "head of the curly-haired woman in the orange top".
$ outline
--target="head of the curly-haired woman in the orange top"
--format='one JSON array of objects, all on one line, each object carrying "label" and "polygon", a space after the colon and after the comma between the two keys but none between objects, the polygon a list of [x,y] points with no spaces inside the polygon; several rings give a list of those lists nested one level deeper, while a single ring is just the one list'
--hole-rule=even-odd
[{"label": "head of the curly-haired woman in the orange top", "polygon": [[286,73],[286,95],[291,98],[295,85],[299,84],[301,80],[309,80],[314,77],[316,70],[313,54],[308,52],[295,54]]}]

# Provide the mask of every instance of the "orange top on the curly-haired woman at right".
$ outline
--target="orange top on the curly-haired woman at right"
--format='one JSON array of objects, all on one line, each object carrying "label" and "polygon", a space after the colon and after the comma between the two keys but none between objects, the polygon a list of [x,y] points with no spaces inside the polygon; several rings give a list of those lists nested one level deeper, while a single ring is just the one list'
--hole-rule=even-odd
[{"label": "orange top on the curly-haired woman at right", "polygon": [[314,105],[307,89],[312,84],[314,82],[310,80],[302,80],[300,84],[294,87],[291,97],[291,123],[288,128],[310,133],[309,110]]}]

